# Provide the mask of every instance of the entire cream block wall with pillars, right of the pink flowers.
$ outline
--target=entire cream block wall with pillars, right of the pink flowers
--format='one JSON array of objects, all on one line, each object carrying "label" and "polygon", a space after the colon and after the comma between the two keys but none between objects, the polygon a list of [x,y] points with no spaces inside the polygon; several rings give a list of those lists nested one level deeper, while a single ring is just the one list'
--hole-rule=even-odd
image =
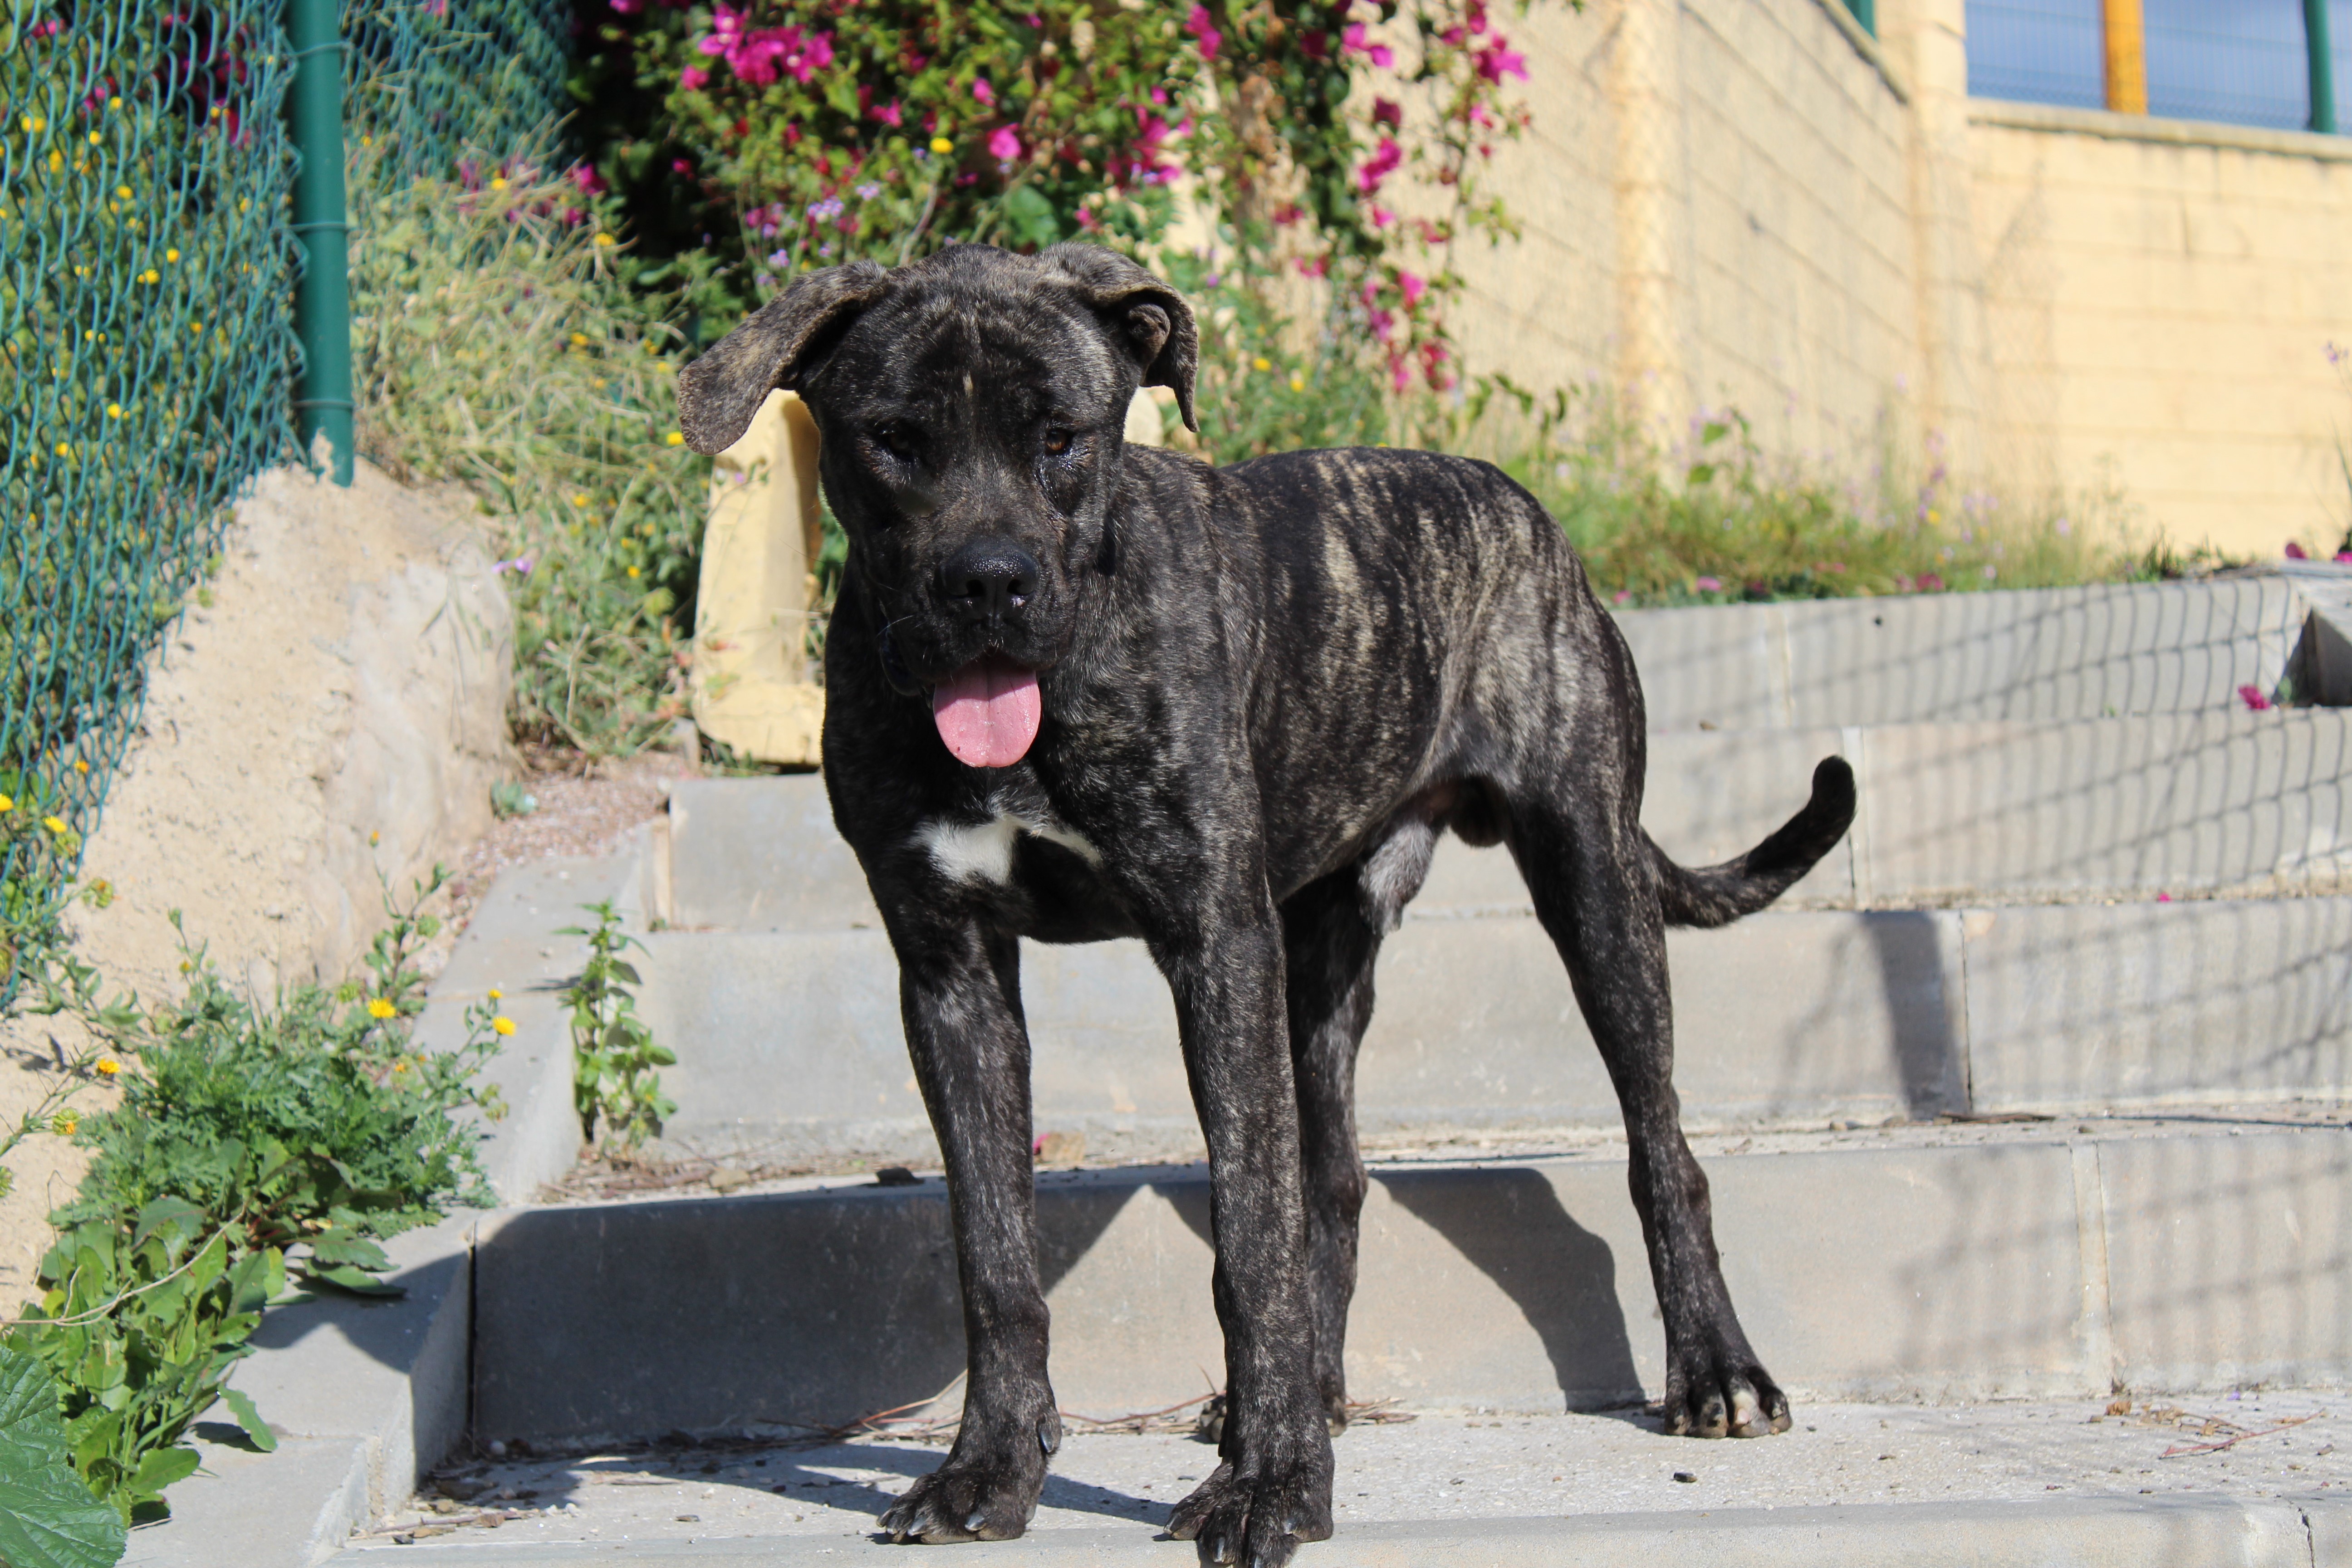
[{"label": "entire cream block wall with pillars, right of the pink flowers", "polygon": [[2352,527],[2352,139],[1966,96],[1966,0],[1590,0],[1510,16],[1519,244],[1456,266],[1470,369],[1736,404],[1849,470],[1933,451],[2013,498],[2277,555]]}]

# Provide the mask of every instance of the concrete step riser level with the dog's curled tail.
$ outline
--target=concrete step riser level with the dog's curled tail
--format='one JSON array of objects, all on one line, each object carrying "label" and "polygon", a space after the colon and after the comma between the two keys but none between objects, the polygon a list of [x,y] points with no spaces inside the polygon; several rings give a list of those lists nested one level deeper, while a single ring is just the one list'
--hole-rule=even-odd
[{"label": "concrete step riser level with the dog's curled tail", "polygon": [[[1644,825],[1686,865],[1724,860],[1788,820],[1830,755],[1856,766],[1856,827],[1790,907],[2352,891],[2352,710],[2336,708],[1658,733]],[[1451,837],[1414,903],[1526,907],[1510,853]],[[814,773],[675,790],[670,919],[877,924]]]}]

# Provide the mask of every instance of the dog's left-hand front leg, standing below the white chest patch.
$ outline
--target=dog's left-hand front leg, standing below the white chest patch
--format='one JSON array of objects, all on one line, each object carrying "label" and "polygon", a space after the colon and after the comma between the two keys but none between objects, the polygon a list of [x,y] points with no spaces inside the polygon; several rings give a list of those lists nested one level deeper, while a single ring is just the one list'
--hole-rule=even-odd
[{"label": "dog's left-hand front leg, standing below the white chest patch", "polygon": [[1021,947],[969,919],[891,922],[898,1006],[948,1161],[964,1286],[964,1422],[948,1462],[882,1514],[894,1540],[1011,1540],[1044,1490],[1061,1418],[1047,1382],[1030,1175],[1030,1053]]}]

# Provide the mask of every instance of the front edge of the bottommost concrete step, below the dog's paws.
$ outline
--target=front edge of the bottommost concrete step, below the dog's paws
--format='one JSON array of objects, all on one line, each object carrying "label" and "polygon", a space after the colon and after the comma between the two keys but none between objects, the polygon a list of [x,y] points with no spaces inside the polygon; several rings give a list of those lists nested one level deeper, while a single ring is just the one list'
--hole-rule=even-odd
[{"label": "front edge of the bottommost concrete step, below the dog's paws", "polygon": [[[2345,1505],[2333,1500],[2100,1497],[2065,1502],[1905,1502],[1865,1507],[1710,1509],[1585,1519],[1477,1519],[1350,1526],[1303,1547],[1298,1568],[2347,1568]],[[532,1563],[840,1563],[896,1561],[908,1547],[854,1535],[769,1535],[694,1542],[374,1547],[372,1559]],[[1018,1542],[955,1547],[957,1563],[1018,1568],[1188,1568],[1190,1542],[1134,1530],[1047,1530]]]}]

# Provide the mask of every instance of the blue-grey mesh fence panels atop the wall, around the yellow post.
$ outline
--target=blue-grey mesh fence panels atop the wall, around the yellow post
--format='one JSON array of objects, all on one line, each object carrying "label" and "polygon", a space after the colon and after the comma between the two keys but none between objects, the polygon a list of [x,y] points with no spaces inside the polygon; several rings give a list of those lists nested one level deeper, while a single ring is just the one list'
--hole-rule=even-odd
[{"label": "blue-grey mesh fence panels atop the wall, around the yellow post", "polygon": [[[2328,0],[2338,94],[2352,78],[2352,0]],[[2303,129],[2312,122],[2303,0],[2143,0],[2147,113]],[[1969,92],[2105,108],[2100,0],[1969,0]]]}]

